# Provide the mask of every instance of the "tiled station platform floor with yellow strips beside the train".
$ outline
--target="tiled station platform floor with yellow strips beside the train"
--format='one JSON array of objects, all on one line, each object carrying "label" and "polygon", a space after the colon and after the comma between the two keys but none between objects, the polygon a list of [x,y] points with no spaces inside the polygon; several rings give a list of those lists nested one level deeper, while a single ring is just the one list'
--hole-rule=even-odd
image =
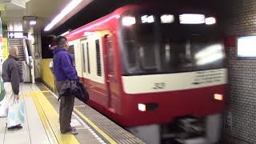
[{"label": "tiled station platform floor with yellow strips beside the train", "polygon": [[78,134],[61,134],[57,95],[41,83],[22,84],[20,89],[20,99],[26,107],[26,122],[22,124],[22,130],[7,130],[6,118],[0,118],[0,144],[145,143],[77,100],[71,126],[76,127]]}]

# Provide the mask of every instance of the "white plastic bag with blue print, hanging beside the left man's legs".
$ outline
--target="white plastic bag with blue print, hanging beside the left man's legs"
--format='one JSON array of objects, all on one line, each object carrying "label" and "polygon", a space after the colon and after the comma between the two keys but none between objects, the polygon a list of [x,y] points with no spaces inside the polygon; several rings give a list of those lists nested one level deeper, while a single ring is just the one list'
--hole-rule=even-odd
[{"label": "white plastic bag with blue print, hanging beside the left man's legs", "polygon": [[10,105],[8,110],[7,127],[18,126],[25,122],[24,111],[24,102],[15,101],[13,105]]}]

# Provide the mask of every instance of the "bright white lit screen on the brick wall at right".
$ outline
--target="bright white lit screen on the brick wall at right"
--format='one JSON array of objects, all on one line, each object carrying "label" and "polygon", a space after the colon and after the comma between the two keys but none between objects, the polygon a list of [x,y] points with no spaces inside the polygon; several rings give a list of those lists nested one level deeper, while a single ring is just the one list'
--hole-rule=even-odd
[{"label": "bright white lit screen on the brick wall at right", "polygon": [[238,37],[238,58],[256,58],[256,36]]}]

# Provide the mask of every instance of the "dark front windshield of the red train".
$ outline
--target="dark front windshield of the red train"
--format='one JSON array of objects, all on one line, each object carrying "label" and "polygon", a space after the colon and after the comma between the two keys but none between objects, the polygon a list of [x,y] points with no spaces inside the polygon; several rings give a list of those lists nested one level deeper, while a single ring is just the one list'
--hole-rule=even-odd
[{"label": "dark front windshield of the red train", "polygon": [[121,22],[123,75],[170,74],[224,67],[225,55],[216,26],[181,24],[180,14],[133,15],[123,17]]}]

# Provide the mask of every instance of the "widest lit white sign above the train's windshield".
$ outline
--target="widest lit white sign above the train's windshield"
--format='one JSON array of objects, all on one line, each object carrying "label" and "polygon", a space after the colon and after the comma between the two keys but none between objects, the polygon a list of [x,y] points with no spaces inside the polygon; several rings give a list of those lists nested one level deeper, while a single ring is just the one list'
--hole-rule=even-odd
[{"label": "widest lit white sign above the train's windshield", "polygon": [[179,21],[181,24],[202,24],[206,22],[204,14],[181,14],[179,15]]}]

